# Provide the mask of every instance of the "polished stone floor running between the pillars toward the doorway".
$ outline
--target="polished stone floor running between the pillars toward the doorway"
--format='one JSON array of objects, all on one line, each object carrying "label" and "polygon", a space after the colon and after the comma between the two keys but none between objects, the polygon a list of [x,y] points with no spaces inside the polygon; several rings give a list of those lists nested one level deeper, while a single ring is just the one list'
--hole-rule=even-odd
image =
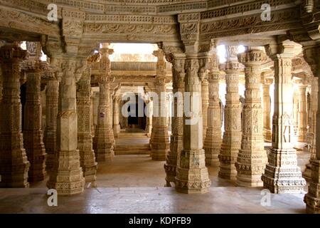
[{"label": "polished stone floor running between the pillars toward the doorway", "polygon": [[[118,142],[134,147],[149,140],[141,134],[136,139],[123,137]],[[309,157],[303,150],[297,154],[303,170]],[[164,187],[164,162],[147,154],[117,155],[99,165],[96,188],[87,184],[81,195],[58,197],[58,207],[48,206],[46,181],[32,183],[29,189],[0,189],[0,213],[304,213],[304,192],[270,195],[270,205],[263,206],[262,187],[236,187],[218,178],[217,167],[208,171],[209,192],[184,195]]]}]

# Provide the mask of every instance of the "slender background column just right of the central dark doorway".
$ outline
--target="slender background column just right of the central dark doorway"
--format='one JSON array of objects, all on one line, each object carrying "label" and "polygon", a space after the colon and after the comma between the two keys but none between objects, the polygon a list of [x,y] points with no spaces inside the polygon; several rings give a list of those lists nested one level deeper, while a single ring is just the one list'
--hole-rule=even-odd
[{"label": "slender background column just right of the central dark doorway", "polygon": [[152,136],[151,136],[151,157],[152,160],[166,160],[166,155],[170,150],[168,135],[168,117],[166,110],[166,62],[164,60],[164,51],[154,51],[154,56],[158,58],[156,65],[156,93],[158,100],[154,101],[154,120],[152,120]]}]

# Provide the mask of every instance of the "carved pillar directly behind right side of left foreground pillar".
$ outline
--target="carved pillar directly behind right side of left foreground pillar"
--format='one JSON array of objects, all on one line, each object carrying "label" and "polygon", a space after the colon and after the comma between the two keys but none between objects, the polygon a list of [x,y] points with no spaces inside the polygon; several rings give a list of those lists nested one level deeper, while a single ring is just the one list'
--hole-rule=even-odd
[{"label": "carved pillar directly behind right side of left foreground pillar", "polygon": [[78,150],[85,182],[92,182],[95,186],[97,162],[95,162],[95,152],[92,150],[90,78],[91,68],[87,66],[78,82],[77,90]]}]

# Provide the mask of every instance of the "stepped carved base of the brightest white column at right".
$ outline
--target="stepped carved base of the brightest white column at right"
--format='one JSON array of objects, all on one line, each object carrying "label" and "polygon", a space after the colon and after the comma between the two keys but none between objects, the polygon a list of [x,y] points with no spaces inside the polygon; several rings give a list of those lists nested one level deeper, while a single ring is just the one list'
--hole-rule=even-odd
[{"label": "stepped carved base of the brightest white column at right", "polygon": [[265,173],[262,175],[263,187],[272,193],[301,193],[304,191],[306,180],[302,177],[300,167],[297,166],[297,155],[295,150],[276,150],[271,149],[269,162],[280,161],[281,164],[292,164],[274,166],[267,164]]}]

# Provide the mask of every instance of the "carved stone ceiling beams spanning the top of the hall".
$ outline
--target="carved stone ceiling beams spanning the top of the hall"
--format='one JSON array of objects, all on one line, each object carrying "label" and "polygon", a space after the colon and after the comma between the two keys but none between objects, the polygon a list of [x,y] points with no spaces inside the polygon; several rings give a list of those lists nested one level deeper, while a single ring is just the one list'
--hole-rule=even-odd
[{"label": "carved stone ceiling beams spanning the top of the hall", "polygon": [[[299,3],[299,1],[297,1]],[[48,21],[48,4],[58,5],[58,21]],[[262,4],[272,7],[262,21]],[[0,28],[16,33],[99,42],[232,43],[263,46],[272,36],[302,29],[301,7],[292,0],[0,0]],[[4,39],[6,34],[2,33]],[[250,42],[247,37],[250,36]]]}]

